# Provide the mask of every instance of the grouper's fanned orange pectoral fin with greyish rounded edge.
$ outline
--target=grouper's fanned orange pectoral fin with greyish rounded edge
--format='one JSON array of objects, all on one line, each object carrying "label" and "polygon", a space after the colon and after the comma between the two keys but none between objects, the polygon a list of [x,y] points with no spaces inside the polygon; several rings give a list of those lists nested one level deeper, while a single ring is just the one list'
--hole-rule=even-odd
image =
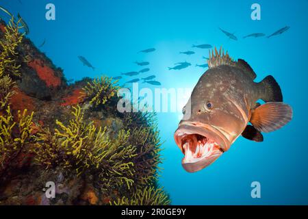
[{"label": "grouper's fanned orange pectoral fin with greyish rounded edge", "polygon": [[292,119],[292,108],[282,102],[268,102],[252,110],[251,124],[261,132],[280,129]]}]

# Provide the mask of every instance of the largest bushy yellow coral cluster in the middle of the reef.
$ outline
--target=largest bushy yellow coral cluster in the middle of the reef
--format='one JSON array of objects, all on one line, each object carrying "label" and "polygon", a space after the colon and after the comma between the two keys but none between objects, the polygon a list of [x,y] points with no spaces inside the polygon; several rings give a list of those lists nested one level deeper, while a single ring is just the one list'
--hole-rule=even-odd
[{"label": "largest bushy yellow coral cluster in the middle of the reef", "polygon": [[68,125],[56,121],[54,136],[49,131],[37,134],[36,161],[47,166],[62,165],[81,175],[87,170],[96,171],[102,189],[133,184],[133,162],[136,146],[128,144],[129,131],[120,131],[110,140],[107,127],[97,128],[84,120],[81,107],[73,107],[73,119]]}]

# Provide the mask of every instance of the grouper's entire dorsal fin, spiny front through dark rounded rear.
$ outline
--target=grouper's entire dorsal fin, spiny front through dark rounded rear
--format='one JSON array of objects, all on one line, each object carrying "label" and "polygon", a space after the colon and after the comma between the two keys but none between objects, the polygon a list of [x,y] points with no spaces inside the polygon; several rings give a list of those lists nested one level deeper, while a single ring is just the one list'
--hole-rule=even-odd
[{"label": "grouper's entire dorsal fin, spiny front through dark rounded rear", "polygon": [[222,65],[234,66],[244,70],[244,72],[250,75],[252,79],[257,77],[253,71],[253,68],[251,68],[247,62],[241,59],[239,59],[238,62],[235,62],[233,58],[228,54],[228,51],[226,51],[226,54],[224,54],[224,50],[221,47],[219,52],[217,51],[216,47],[214,50],[209,51],[209,60],[207,61],[207,64],[209,65],[209,68]]}]

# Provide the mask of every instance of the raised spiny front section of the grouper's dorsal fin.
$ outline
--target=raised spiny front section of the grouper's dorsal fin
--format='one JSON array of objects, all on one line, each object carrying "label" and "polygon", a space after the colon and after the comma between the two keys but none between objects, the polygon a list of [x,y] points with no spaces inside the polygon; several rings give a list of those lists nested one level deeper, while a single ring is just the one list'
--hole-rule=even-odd
[{"label": "raised spiny front section of the grouper's dorsal fin", "polygon": [[236,62],[229,56],[228,51],[226,51],[226,54],[224,54],[224,50],[221,47],[219,50],[219,53],[215,47],[215,53],[214,50],[209,51],[209,60],[207,61],[207,64],[209,65],[209,68],[214,68],[217,66],[227,65],[227,66],[235,66]]}]

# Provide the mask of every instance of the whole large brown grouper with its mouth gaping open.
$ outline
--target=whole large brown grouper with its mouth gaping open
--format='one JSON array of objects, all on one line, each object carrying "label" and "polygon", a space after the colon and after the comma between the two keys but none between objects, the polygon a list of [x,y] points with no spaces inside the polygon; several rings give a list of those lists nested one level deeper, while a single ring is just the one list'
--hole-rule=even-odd
[{"label": "whole large brown grouper with its mouth gaping open", "polygon": [[[209,54],[208,65],[175,131],[175,142],[184,154],[182,165],[188,172],[209,166],[241,134],[261,142],[261,131],[277,130],[292,119],[292,108],[282,103],[281,88],[272,76],[255,83],[251,66],[244,60],[235,62],[221,49]],[[260,105],[259,99],[266,103]]]}]

